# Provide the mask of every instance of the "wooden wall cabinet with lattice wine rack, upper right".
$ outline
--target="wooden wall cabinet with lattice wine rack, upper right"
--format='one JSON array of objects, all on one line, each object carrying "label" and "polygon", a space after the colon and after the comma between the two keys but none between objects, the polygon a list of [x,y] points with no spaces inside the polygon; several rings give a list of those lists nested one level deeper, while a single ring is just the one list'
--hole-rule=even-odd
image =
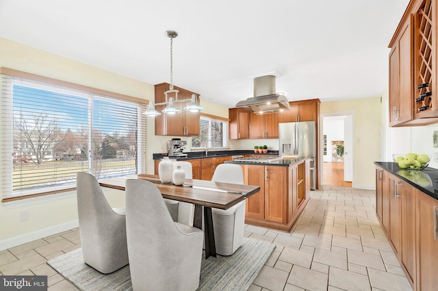
[{"label": "wooden wall cabinet with lattice wine rack, upper right", "polygon": [[437,1],[412,0],[389,48],[389,126],[438,122]]}]

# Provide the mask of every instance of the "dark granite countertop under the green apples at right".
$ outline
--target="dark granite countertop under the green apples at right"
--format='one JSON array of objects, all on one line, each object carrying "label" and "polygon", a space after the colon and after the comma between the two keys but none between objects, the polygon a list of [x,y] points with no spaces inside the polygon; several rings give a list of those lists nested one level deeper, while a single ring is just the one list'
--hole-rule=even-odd
[{"label": "dark granite countertop under the green apples at right", "polygon": [[400,169],[394,162],[374,162],[374,164],[438,200],[438,169],[431,167],[421,171]]}]

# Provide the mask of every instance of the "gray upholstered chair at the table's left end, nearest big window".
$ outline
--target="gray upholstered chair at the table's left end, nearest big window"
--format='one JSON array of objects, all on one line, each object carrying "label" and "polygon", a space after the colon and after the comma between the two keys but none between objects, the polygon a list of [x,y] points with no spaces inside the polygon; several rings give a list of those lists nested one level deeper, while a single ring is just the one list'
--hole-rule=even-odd
[{"label": "gray upholstered chair at the table's left end, nearest big window", "polygon": [[91,174],[77,173],[76,180],[83,261],[112,273],[128,264],[125,208],[111,208]]}]

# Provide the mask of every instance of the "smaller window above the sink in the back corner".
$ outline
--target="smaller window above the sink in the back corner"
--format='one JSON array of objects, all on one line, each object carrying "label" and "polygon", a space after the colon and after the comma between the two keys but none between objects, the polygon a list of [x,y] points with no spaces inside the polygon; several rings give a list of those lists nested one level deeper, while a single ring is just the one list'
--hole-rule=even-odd
[{"label": "smaller window above the sink in the back corner", "polygon": [[199,137],[192,137],[192,149],[204,149],[207,141],[211,148],[228,148],[228,121],[201,115],[199,124]]}]

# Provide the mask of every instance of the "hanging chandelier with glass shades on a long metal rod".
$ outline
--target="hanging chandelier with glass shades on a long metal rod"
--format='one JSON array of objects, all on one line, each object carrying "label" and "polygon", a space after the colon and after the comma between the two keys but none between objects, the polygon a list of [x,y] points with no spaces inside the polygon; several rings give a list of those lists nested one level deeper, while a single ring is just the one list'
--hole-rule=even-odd
[{"label": "hanging chandelier with glass shades on a long metal rod", "polygon": [[[167,30],[166,36],[168,38],[170,38],[170,88],[168,89],[168,91],[164,92],[164,94],[166,95],[166,102],[156,103],[155,105],[167,105],[166,108],[164,108],[162,110],[162,112],[166,113],[166,114],[175,114],[175,113],[180,113],[181,110],[179,110],[175,107],[174,102],[192,101],[190,103],[190,105],[184,107],[184,110],[190,111],[190,112],[202,111],[203,107],[199,106],[196,103],[196,94],[192,94],[191,99],[178,100],[179,91],[177,89],[173,88],[173,39],[178,36],[178,33],[177,33],[177,31]],[[170,94],[170,93],[175,93],[175,98],[168,97],[168,94]],[[149,104],[149,109],[146,110],[144,112],[144,114],[151,116],[151,117],[156,117],[158,115],[161,115],[161,113],[159,113],[158,111],[155,110],[155,106],[154,106],[154,103],[152,101]]]}]

